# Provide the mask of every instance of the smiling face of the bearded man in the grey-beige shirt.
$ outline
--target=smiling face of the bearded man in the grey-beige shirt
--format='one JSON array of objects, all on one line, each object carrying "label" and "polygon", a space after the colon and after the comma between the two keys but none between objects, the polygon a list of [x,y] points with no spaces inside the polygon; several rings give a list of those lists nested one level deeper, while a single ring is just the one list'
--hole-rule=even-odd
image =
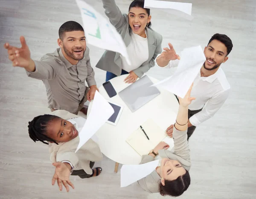
[{"label": "smiling face of the bearded man in the grey-beige shirt", "polygon": [[66,58],[68,56],[72,60],[82,60],[86,50],[84,31],[65,32],[63,38],[58,39],[58,45],[64,50]]}]

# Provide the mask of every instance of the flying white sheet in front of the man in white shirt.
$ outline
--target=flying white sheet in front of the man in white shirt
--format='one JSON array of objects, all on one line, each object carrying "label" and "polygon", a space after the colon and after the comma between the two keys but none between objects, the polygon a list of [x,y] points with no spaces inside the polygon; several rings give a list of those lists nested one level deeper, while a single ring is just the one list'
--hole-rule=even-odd
[{"label": "flying white sheet in front of the man in white shirt", "polygon": [[[206,58],[201,46],[185,48],[181,52],[180,61],[172,77],[168,77],[153,86],[162,87],[183,98],[194,82]],[[193,97],[193,96],[192,96]]]}]

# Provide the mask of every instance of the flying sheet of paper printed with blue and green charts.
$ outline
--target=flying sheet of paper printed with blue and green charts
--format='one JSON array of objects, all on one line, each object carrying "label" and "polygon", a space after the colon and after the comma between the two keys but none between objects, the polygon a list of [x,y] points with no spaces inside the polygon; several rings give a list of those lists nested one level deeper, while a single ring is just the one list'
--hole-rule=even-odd
[{"label": "flying sheet of paper printed with blue and green charts", "polygon": [[131,65],[125,43],[116,28],[89,4],[82,0],[76,0],[76,3],[81,12],[88,43],[122,54],[127,63]]}]

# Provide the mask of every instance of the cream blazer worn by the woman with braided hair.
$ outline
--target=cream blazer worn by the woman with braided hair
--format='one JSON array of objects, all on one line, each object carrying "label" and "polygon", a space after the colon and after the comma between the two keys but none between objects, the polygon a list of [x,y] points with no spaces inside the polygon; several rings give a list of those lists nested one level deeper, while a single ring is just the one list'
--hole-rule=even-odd
[{"label": "cream blazer worn by the woman with braided hair", "polygon": [[[51,114],[61,117],[62,119],[79,117],[65,110],[53,111]],[[81,127],[79,126],[79,128]],[[103,158],[99,145],[92,139],[89,139],[79,151],[75,153],[78,144],[79,136],[69,142],[63,142],[58,145],[49,143],[50,160],[52,163],[66,160],[72,163],[74,170],[83,169],[87,174],[92,174],[90,161],[96,162]]]}]

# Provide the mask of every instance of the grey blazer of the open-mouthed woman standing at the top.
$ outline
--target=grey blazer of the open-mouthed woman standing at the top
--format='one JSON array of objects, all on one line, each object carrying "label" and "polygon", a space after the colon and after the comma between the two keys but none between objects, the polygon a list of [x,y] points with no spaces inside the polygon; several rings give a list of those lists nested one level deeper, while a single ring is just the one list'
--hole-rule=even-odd
[{"label": "grey blazer of the open-mouthed woman standing at the top", "polygon": [[[116,6],[115,0],[102,0],[105,14],[109,18],[111,24],[121,35],[128,46],[131,43],[131,28],[128,22],[128,15],[122,14]],[[139,68],[133,70],[138,77],[142,77],[151,67],[155,65],[155,59],[162,52],[163,37],[151,28],[146,28],[148,34],[148,60],[145,61]],[[109,71],[117,76],[122,72],[122,58],[120,53],[113,51],[105,51],[101,59],[96,65],[104,71]]]}]

